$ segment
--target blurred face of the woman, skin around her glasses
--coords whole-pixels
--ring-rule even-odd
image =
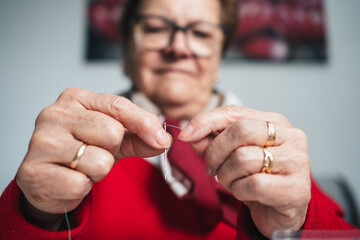
[[[220,7],[219,0],[144,0],[138,13],[162,16],[184,27],[198,21],[220,24]],[[166,116],[191,119],[212,93],[220,59],[221,51],[197,57],[188,49],[184,32],[177,31],[164,50],[145,50],[132,41],[129,74]]]

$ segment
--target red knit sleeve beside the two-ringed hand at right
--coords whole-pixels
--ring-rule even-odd
[[[355,229],[343,219],[343,210],[329,197],[327,197],[317,186],[314,180],[311,181],[311,200],[308,205],[308,212],[303,230],[348,230]]]

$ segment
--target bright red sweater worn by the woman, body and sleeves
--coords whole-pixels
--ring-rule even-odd
[[[28,223],[19,208],[20,189],[12,181],[0,198],[0,239],[68,239],[68,231],[47,231]],[[303,229],[353,229],[341,209],[312,183]],[[70,213],[72,239],[263,239],[248,208],[239,204],[236,229],[220,222],[202,232],[193,212],[173,194],[161,172],[141,158],[120,160],[93,185]]]

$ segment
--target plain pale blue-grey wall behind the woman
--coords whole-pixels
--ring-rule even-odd
[[[119,64],[83,60],[85,1],[0,0],[0,192],[42,108],[70,86],[117,93]],[[303,129],[315,175],[341,174],[360,200],[360,1],[327,0],[330,62],[226,62],[219,87]],[[358,201],[360,205],[360,201]]]

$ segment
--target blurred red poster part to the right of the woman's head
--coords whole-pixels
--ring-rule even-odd
[[[230,57],[327,60],[322,0],[242,0]]]

